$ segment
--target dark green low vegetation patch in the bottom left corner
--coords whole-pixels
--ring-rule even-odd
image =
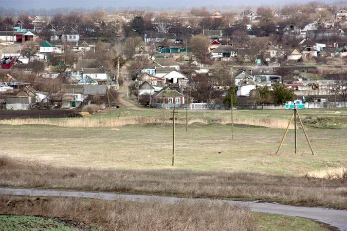
[[[75,231],[78,229],[67,226],[53,219],[29,216],[0,215],[0,230],[3,231]]]

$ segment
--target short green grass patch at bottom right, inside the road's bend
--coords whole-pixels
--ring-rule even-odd
[[[305,218],[263,213],[256,213],[256,216],[260,221],[259,229],[263,231],[328,230],[319,223]]]

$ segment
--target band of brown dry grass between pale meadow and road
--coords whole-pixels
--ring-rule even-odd
[[[337,179],[189,170],[53,168],[1,158],[0,185],[194,198],[277,201],[347,208],[346,182]]]

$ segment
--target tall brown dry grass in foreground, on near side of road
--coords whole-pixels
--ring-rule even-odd
[[[74,198],[0,198],[0,213],[60,218],[96,225],[100,230],[258,229],[248,208],[227,204],[82,200]]]

